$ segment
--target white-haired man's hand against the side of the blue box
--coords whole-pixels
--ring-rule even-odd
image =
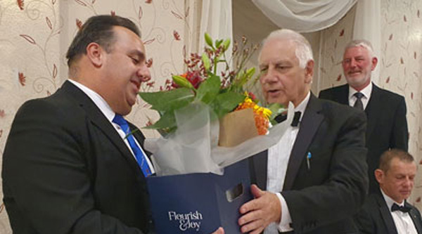
[[[242,233],[258,234],[269,226],[269,223],[279,223],[281,219],[281,204],[274,193],[262,191],[255,185],[250,186],[254,200],[243,204],[238,220]]]

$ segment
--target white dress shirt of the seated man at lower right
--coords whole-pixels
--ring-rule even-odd
[[[383,194],[384,200],[387,203],[388,210],[391,213],[392,220],[394,220],[394,224],[397,228],[397,233],[399,234],[418,234],[416,227],[411,220],[410,214],[408,212],[400,212],[399,210],[395,212],[391,212],[392,204],[397,203],[392,200],[388,195],[384,193],[381,189],[381,193]],[[399,206],[404,206],[404,201],[402,203],[397,203]]]

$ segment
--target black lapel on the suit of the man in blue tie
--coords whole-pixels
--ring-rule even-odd
[[[116,146],[116,148],[121,152],[120,155],[124,157],[129,165],[136,171],[137,174],[141,174],[138,163],[134,159],[132,152],[130,152],[127,145],[124,143],[120,135],[114,129],[113,125],[108,122],[108,119],[103,115],[100,109],[95,105],[95,103],[85,94],[82,90],[77,88],[74,84],[66,81],[62,86],[63,91],[67,92],[69,96],[74,98],[79,106],[85,110],[87,116],[91,120],[92,124],[98,127],[103,131],[103,134],[107,136],[110,141]]]

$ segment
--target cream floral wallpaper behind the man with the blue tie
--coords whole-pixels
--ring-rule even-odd
[[[194,37],[189,24],[200,4],[186,2],[0,0],[0,155],[20,105],[51,95],[67,79],[65,53],[78,28],[91,15],[116,14],[133,20],[141,29],[152,76],[141,89],[165,87],[170,74],[183,70],[185,37]],[[139,99],[128,118],[137,126],[145,126],[156,116]],[[153,131],[144,134],[155,136]],[[1,200],[0,234],[6,233],[12,232]]]

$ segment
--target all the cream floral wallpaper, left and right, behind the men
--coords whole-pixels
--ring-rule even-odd
[[[0,0],[0,155],[16,110],[30,98],[49,96],[65,81],[65,52],[77,28],[91,15],[117,14],[141,28],[153,79],[143,90],[165,86],[170,74],[183,70],[184,54],[195,49],[200,1],[180,0]],[[234,8],[236,11],[236,8]],[[422,1],[382,1],[382,55],[378,85],[406,97],[410,152],[422,152]],[[320,58],[320,89],[345,83],[340,60],[352,37],[354,10],[337,25],[324,30]],[[154,112],[139,100],[129,119],[144,126]],[[153,131],[144,131],[156,136]],[[1,161],[0,161],[1,163]],[[421,172],[419,171],[419,174]],[[422,176],[416,180],[412,201],[421,209]],[[1,186],[1,184],[0,184]],[[1,197],[1,196],[0,196]],[[1,204],[1,202],[0,202]],[[0,206],[0,233],[11,233]]]

